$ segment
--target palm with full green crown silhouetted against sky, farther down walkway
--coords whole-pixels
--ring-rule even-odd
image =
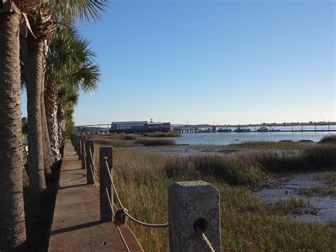
[[[64,109],[74,106],[79,90],[93,92],[99,82],[99,67],[89,41],[79,38],[73,28],[63,27],[50,43],[45,72],[45,108],[50,143],[59,151],[62,142]]]

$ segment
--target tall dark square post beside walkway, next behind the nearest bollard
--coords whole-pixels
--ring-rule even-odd
[[[108,163],[108,168],[106,167],[106,160]],[[108,172],[110,172],[112,177],[113,154],[111,147],[99,148],[99,167],[101,221],[112,221],[112,209],[110,203],[108,202],[107,196],[108,193],[113,205],[113,190],[111,185],[111,178],[110,175],[108,175]]]

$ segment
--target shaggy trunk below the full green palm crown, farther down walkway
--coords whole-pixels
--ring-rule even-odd
[[[57,89],[48,84],[45,89],[45,114],[47,115],[47,129],[49,131],[50,145],[55,160],[60,160],[60,141],[57,124]]]

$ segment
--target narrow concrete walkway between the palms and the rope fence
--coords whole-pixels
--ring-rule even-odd
[[[102,223],[99,191],[86,185],[86,171],[67,143],[57,192],[49,251],[127,251],[112,222]],[[121,228],[130,251],[143,251],[128,226]]]

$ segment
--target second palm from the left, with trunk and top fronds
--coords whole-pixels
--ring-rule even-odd
[[[45,189],[44,159],[43,159],[43,128],[41,100],[43,83],[43,71],[45,56],[47,55],[48,41],[52,38],[57,26],[57,18],[69,23],[78,18],[87,20],[89,16],[100,18],[102,10],[100,2],[96,1],[56,1],[50,0],[47,4],[38,6],[35,15],[30,17],[30,26],[33,35],[28,37],[28,60],[26,70],[27,106],[28,106],[28,141],[30,149],[33,149],[28,158],[28,174],[30,175],[30,190],[38,193]],[[30,120],[30,118],[32,118]],[[52,143],[52,139],[51,143]],[[57,146],[58,148],[59,146]],[[57,150],[56,158],[60,158]]]

